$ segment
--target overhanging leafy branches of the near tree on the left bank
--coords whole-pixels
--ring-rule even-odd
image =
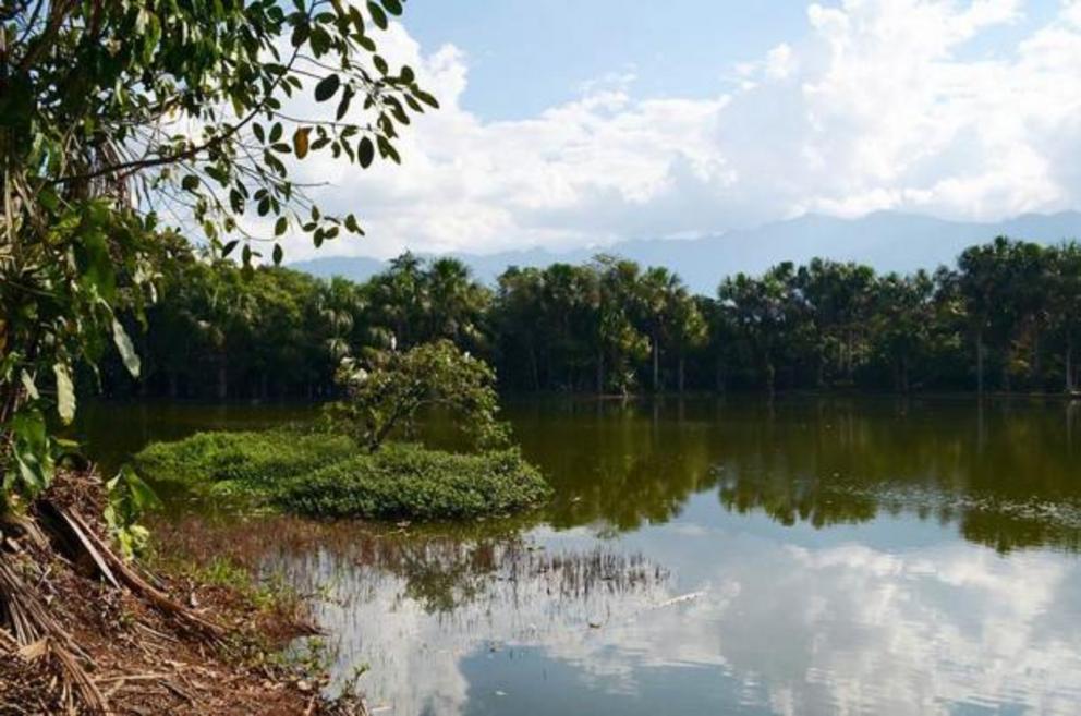
[[[327,215],[292,160],[321,153],[366,168],[400,161],[411,117],[438,102],[412,68],[378,54],[400,0],[0,3],[0,471],[3,507],[48,484],[41,415],[75,411],[73,375],[110,341],[142,372],[145,325],[162,272],[185,253],[158,211],[206,236],[214,256],[242,244],[245,274],[290,228],[316,246],[356,218]],[[333,120],[296,117],[314,95]],[[289,131],[292,142],[286,139]],[[264,221],[244,221],[252,214]],[[245,229],[272,226],[272,235]],[[228,318],[236,313],[226,312]],[[210,326],[210,330],[221,326]]]

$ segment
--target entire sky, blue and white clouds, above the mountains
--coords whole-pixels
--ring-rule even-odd
[[[377,40],[441,109],[401,167],[303,162],[367,236],[291,258],[1081,207],[1081,0],[410,0]]]

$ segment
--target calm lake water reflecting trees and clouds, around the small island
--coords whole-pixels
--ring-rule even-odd
[[[305,413],[98,406],[86,433],[108,465]],[[367,666],[377,714],[1081,713],[1081,405],[509,414],[557,488],[543,514],[183,529],[315,594],[337,677]]]

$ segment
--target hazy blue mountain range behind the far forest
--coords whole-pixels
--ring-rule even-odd
[[[603,248],[552,253],[543,248],[498,254],[453,254],[483,281],[494,281],[508,266],[580,263],[603,251],[639,262],[666,266],[700,293],[712,294],[725,276],[757,274],[784,260],[804,263],[815,256],[853,260],[879,271],[913,271],[952,264],[965,247],[998,235],[1056,243],[1081,238],[1081,213],[1025,214],[999,222],[947,221],[913,214],[878,211],[859,219],[807,214],[755,229],[701,239],[637,240]],[[315,276],[365,280],[386,268],[367,257],[326,256],[292,265]]]

